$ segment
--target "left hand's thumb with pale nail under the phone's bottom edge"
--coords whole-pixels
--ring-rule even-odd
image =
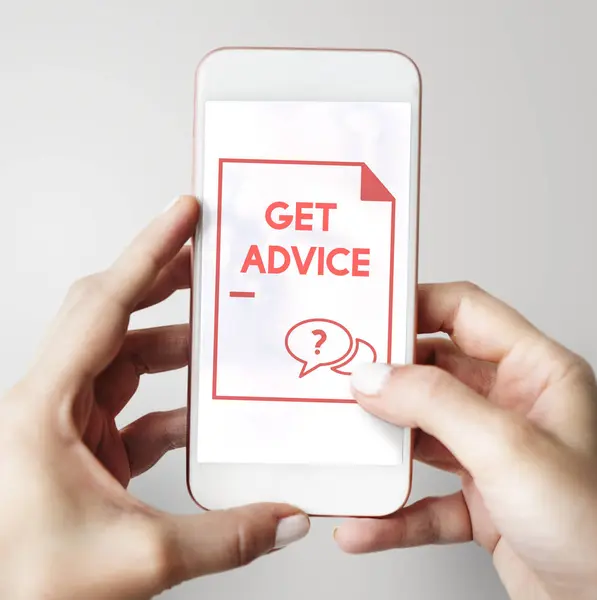
[[[252,504],[193,516],[165,515],[162,589],[244,566],[307,535],[309,517],[285,504]]]

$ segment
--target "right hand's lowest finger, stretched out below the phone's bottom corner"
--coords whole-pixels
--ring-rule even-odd
[[[472,539],[472,527],[462,492],[425,498],[384,519],[351,519],[334,532],[342,550],[350,554],[412,548],[429,544],[457,544]]]

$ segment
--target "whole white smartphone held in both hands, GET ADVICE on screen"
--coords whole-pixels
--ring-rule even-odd
[[[411,432],[359,362],[415,342],[421,81],[403,54],[224,48],[196,74],[188,487],[206,509],[381,516]]]

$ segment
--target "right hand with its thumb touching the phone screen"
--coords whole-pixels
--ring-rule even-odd
[[[476,541],[513,599],[597,598],[597,385],[591,367],[470,284],[419,288],[422,365],[367,365],[360,405],[415,432],[462,491],[336,531],[352,553]]]

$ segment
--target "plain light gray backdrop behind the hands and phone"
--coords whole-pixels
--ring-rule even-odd
[[[68,284],[189,189],[193,72],[214,46],[392,47],[424,81],[421,279],[471,279],[595,364],[597,8],[590,0],[56,1],[0,4],[0,390]],[[184,321],[183,293],[135,326]],[[146,379],[126,422],[185,399]],[[131,489],[193,511],[184,453]],[[424,468],[414,497],[457,482]],[[349,557],[307,541],[170,599],[503,598],[473,545]]]

